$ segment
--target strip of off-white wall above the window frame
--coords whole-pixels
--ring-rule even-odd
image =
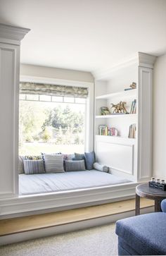
[[[72,71],[68,69],[49,68],[45,66],[27,64],[20,64],[20,75],[94,83],[94,77],[90,72]]]

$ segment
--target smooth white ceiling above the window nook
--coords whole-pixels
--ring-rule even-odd
[[[0,23],[31,29],[21,63],[95,75],[137,51],[166,53],[165,0],[0,0]]]

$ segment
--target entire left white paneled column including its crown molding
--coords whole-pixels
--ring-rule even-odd
[[[28,31],[0,24],[0,198],[18,196],[20,39]]]

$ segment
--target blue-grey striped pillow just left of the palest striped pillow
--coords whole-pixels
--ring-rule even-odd
[[[43,160],[23,160],[25,174],[45,173]]]

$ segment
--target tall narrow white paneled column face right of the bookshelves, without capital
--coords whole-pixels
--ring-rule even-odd
[[[151,178],[153,69],[139,67],[139,181]]]

